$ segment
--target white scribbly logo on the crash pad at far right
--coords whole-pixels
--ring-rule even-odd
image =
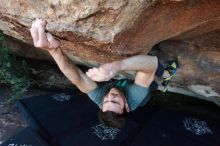
[[[183,124],[186,130],[196,135],[213,134],[205,121],[200,121],[199,119],[191,117],[185,117]]]

